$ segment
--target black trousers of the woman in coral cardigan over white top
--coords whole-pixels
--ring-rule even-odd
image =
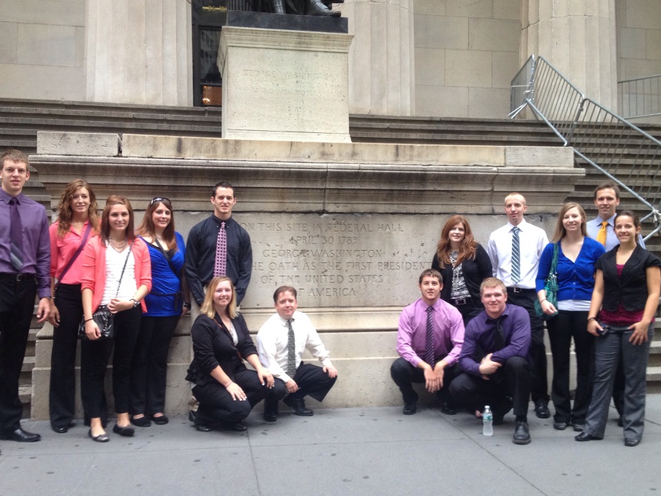
[[[115,314],[115,337],[112,340],[81,341],[81,396],[85,416],[103,416],[105,372],[111,353],[112,393],[117,413],[128,413],[131,397],[131,360],[138,340],[140,307]]]

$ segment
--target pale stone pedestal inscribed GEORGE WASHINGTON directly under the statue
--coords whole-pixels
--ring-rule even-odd
[[[341,32],[222,28],[222,137],[351,141],[347,92],[352,38]]]

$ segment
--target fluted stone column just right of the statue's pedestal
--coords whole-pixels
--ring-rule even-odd
[[[411,115],[415,102],[413,0],[345,0],[349,112]]]

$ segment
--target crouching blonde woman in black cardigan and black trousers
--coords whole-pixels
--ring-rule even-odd
[[[229,278],[220,276],[209,282],[191,339],[193,361],[186,380],[200,402],[195,418],[198,431],[216,427],[245,431],[243,420],[255,404],[268,395],[278,401],[286,394],[284,385],[274,388],[273,375],[260,363],[246,321],[236,311],[236,293]],[[247,369],[243,360],[255,370]]]

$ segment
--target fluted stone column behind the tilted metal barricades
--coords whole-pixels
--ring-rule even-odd
[[[521,62],[543,56],[580,92],[616,110],[615,0],[523,0]]]

